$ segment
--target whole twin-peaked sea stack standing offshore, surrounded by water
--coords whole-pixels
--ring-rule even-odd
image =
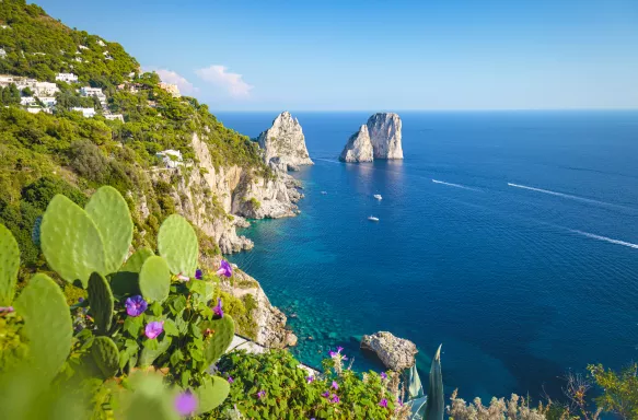
[[[374,159],[403,159],[401,117],[395,113],[376,113],[359,132],[348,140],[340,161],[372,162]]]

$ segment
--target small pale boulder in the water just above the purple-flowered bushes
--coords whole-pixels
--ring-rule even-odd
[[[414,342],[387,331],[363,336],[361,349],[374,352],[387,369],[397,372],[411,368],[418,353]]]

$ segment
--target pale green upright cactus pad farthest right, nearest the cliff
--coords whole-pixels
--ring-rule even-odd
[[[179,214],[172,214],[160,226],[158,249],[166,258],[174,275],[195,277],[199,244],[190,223]]]

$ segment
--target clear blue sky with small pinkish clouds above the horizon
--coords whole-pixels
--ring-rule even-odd
[[[218,110],[638,108],[636,0],[40,0]]]

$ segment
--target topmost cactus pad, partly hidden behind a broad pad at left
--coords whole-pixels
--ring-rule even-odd
[[[104,186],[91,196],[84,210],[102,235],[106,256],[105,272],[117,271],[132,241],[132,220],[124,197],[117,189]]]

